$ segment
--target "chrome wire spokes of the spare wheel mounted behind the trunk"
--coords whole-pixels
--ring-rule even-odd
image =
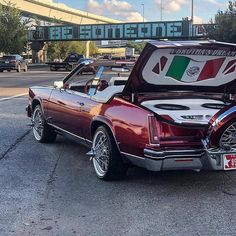
[[[236,148],[236,122],[230,125],[220,138],[220,146],[230,146]]]

